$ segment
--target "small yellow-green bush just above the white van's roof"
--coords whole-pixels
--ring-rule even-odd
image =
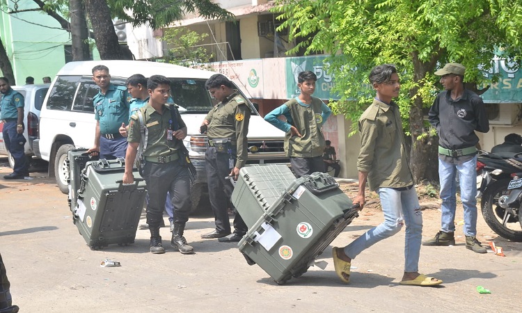
[[[212,54],[209,54],[204,47],[195,47],[207,37],[207,33],[196,33],[185,27],[166,29],[162,40],[174,47],[168,49],[165,61],[186,67],[208,63]]]

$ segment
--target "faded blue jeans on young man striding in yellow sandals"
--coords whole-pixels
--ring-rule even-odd
[[[344,248],[350,259],[355,259],[366,248],[370,248],[397,232],[406,224],[404,242],[404,272],[417,272],[422,240],[422,211],[415,187],[404,191],[393,188],[379,188],[384,222],[368,230]]]

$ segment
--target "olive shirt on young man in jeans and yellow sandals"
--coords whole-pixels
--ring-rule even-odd
[[[358,121],[361,152],[357,169],[368,172],[371,191],[378,188],[402,188],[413,184],[409,152],[404,143],[399,107],[374,99]]]

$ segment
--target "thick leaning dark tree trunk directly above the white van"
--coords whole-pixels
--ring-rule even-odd
[[[93,26],[96,47],[102,60],[124,60],[118,36],[114,30],[109,5],[105,0],[85,0],[86,11]]]

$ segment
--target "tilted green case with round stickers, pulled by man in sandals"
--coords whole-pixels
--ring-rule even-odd
[[[335,179],[322,172],[294,179],[281,193],[238,244],[248,264],[258,264],[278,284],[306,273],[358,216]],[[236,207],[244,216],[247,208]]]

